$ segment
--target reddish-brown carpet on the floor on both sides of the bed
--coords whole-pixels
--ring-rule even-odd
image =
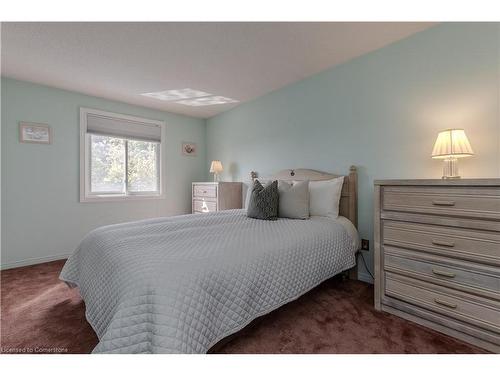
[[[2,352],[90,353],[97,337],[77,290],[58,280],[64,261],[1,271]],[[373,308],[373,288],[331,279],[263,317],[219,353],[484,353]]]

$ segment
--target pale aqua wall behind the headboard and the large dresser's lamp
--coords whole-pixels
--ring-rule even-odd
[[[499,24],[439,25],[243,104],[207,121],[207,163],[245,181],[354,164],[371,240],[373,180],[439,178],[430,153],[441,129],[466,129],[476,156],[461,160],[464,176],[500,177],[499,38]]]

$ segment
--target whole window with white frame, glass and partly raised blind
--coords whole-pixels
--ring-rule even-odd
[[[163,197],[162,125],[82,108],[80,201]]]

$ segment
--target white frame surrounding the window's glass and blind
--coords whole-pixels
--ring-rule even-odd
[[[156,148],[158,162],[158,192],[130,192],[128,191],[128,144],[125,142],[125,193],[93,193],[91,191],[90,181],[90,160],[91,160],[91,134],[87,133],[87,117],[88,115],[106,116],[117,120],[133,121],[160,127],[161,135],[160,142]],[[125,140],[139,140],[131,137],[110,136],[113,138],[123,138]],[[113,201],[130,201],[130,200],[149,200],[149,199],[164,199],[165,198],[165,168],[164,168],[164,148],[165,145],[165,122],[159,120],[151,120],[142,117],[123,115],[120,113],[105,112],[92,108],[80,108],[80,202],[113,202]]]

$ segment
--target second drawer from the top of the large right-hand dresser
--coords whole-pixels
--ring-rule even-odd
[[[382,243],[500,265],[500,233],[383,220]]]

